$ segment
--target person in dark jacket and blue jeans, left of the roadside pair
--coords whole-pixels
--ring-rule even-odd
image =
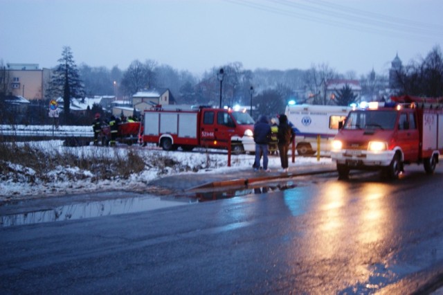
[[[268,169],[268,145],[271,140],[271,125],[269,125],[266,116],[260,116],[254,125],[254,142],[255,142],[255,162],[254,170],[260,169],[260,159],[263,156],[263,170],[269,172]]]

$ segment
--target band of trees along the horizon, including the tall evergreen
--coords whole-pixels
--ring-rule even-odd
[[[372,70],[368,75],[357,78],[353,72],[338,73],[328,64],[313,64],[307,70],[251,71],[244,69],[241,62],[233,62],[214,66],[197,77],[189,71],[177,71],[154,60],[134,60],[125,71],[118,69],[118,66],[112,69],[87,64],[77,66],[69,46],[63,48],[62,57],[57,62],[46,99],[63,97],[66,120],[72,120],[69,119],[71,98],[131,98],[143,89],[170,89],[177,104],[218,105],[222,85],[223,105],[253,105],[253,116],[256,118],[259,114],[274,116],[281,113],[289,100],[302,103],[310,98],[309,101],[316,105],[350,105],[354,102],[356,94],[350,85],[338,89],[331,102],[325,87],[327,81],[332,79],[358,79],[362,87],[361,95],[368,100],[385,98],[380,93],[389,87],[387,75],[378,75]],[[224,70],[222,82],[217,77],[219,69]],[[395,89],[390,89],[392,95],[443,96],[443,56],[440,46],[432,48],[426,57],[402,66],[395,76],[397,85]],[[6,71],[0,71],[0,98],[7,93]],[[3,100],[0,99],[0,104]]]

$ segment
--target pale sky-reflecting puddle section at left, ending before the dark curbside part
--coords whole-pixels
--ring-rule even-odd
[[[159,208],[168,208],[189,203],[190,200],[185,199],[177,201],[172,198],[166,199],[152,196],[84,202],[58,206],[57,208],[43,211],[1,216],[0,226],[6,227],[62,220],[80,220],[90,217],[152,211]]]

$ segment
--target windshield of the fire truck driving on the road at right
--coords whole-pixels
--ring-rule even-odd
[[[351,111],[343,129],[394,129],[396,118],[394,110]]]

